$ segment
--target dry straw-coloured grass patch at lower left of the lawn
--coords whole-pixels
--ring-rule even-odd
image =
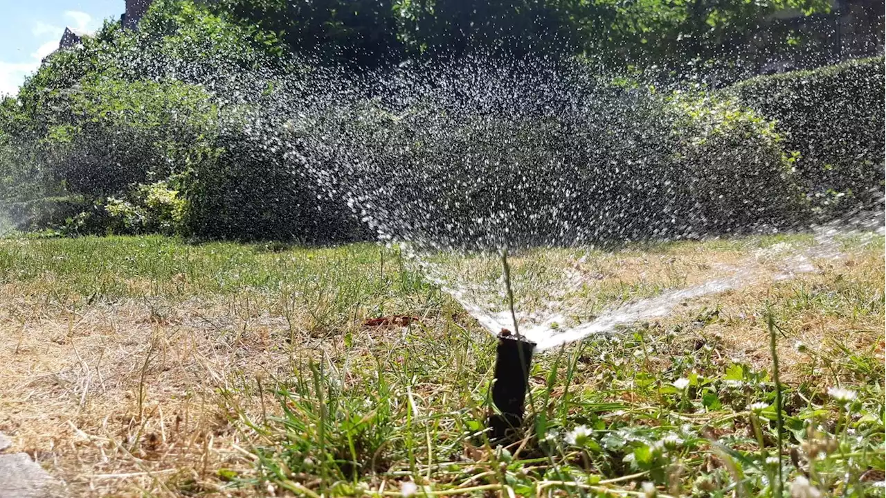
[[[211,309],[159,323],[133,302],[75,311],[16,297],[0,332],[0,426],[75,494],[174,494],[169,474],[211,487],[219,466],[245,463],[214,392],[235,369],[279,361],[258,334],[224,344],[200,323],[224,318]]]

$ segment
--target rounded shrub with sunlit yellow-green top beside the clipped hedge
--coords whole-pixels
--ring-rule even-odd
[[[686,175],[683,188],[707,230],[729,231],[759,222],[789,225],[805,203],[792,175],[796,158],[781,149],[774,123],[722,97],[674,94],[671,161]]]

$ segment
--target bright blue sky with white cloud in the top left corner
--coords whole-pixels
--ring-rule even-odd
[[[94,31],[123,11],[124,0],[0,0],[0,96],[18,93],[66,26]]]

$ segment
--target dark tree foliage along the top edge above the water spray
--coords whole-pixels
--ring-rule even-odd
[[[749,72],[753,53],[798,51],[803,34],[773,22],[828,0],[221,0],[215,12],[276,34],[288,51],[371,67],[417,54],[584,54],[607,66],[718,80]],[[750,50],[766,32],[770,42]]]

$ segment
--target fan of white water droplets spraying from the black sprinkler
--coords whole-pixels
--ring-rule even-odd
[[[501,250],[812,227],[797,222],[802,203],[789,181],[773,181],[781,174],[758,160],[770,151],[733,144],[746,155],[724,147],[708,162],[692,162],[680,155],[686,138],[666,98],[640,85],[613,86],[582,66],[469,59],[309,89],[299,98],[298,110],[278,114],[287,116],[280,141],[293,168],[344,199],[380,239],[403,243],[487,331],[518,327],[540,350],[843,256],[836,240],[845,221],[815,228],[809,247],[776,247],[716,268],[698,284],[608,302],[595,316],[571,302],[582,283],[569,268],[529,269],[525,281],[536,288],[515,285],[514,323],[494,264]],[[740,174],[724,175],[730,168]],[[745,178],[756,183],[727,184]],[[856,225],[868,232],[882,226],[874,214],[857,216]],[[451,256],[440,261],[453,253],[485,262],[460,273]]]

